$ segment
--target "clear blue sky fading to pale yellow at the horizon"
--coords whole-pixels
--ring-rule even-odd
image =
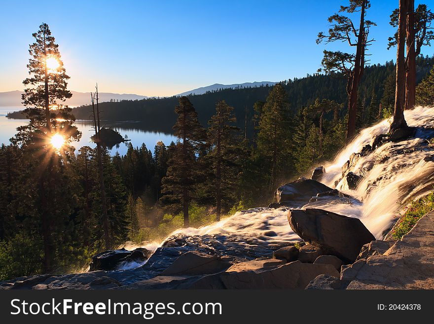
[[[42,22],[59,44],[69,89],[80,92],[95,82],[101,92],[172,96],[214,83],[281,81],[315,73],[325,48],[355,49],[315,42],[347,0],[0,2],[0,92],[23,90],[29,44]],[[371,0],[371,63],[396,60],[396,49],[387,50],[396,7],[398,0]]]

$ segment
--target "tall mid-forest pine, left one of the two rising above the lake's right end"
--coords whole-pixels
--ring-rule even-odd
[[[184,227],[188,227],[188,207],[195,191],[199,171],[196,153],[200,151],[205,139],[205,130],[187,97],[179,99],[175,112],[178,119],[173,128],[178,142],[169,159],[167,175],[163,179],[162,199],[169,202],[175,211],[182,210]]]

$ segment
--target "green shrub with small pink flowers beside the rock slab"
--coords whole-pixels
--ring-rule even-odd
[[[407,234],[417,221],[434,209],[434,191],[429,195],[414,200],[405,211],[404,215],[399,218],[396,224],[392,237],[396,240],[400,240],[403,235]]]

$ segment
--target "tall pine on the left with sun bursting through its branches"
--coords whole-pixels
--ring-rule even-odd
[[[67,90],[69,76],[48,25],[40,25],[33,36],[36,41],[30,45],[27,65],[30,77],[23,81],[22,96],[30,122],[17,129],[11,142],[23,149],[27,177],[22,185],[33,191],[32,199],[37,201],[37,206],[23,202],[20,210],[26,213],[26,206],[32,210],[28,213],[34,215],[33,226],[43,242],[43,271],[49,272],[61,262],[61,248],[66,248],[71,238],[67,235],[72,228],[68,216],[76,206],[71,192],[76,179],[67,163],[74,156],[69,144],[81,133],[73,125],[71,109],[62,105],[72,96]]]

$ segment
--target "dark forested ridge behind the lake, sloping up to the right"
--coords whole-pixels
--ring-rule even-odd
[[[434,64],[433,57],[417,57],[416,82],[419,83],[431,70]],[[387,77],[395,77],[396,66],[393,61],[385,64],[375,64],[367,66],[364,70],[361,83],[359,85],[359,100],[365,98],[365,107],[371,102],[372,94],[380,100],[385,91],[385,80]],[[344,103],[345,113],[347,110],[347,80],[340,74],[325,75],[315,73],[302,78],[289,79],[283,81],[291,104],[293,113],[303,107],[312,105],[315,99],[330,99],[339,103]],[[265,101],[272,87],[260,86],[253,88],[222,89],[219,91],[208,92],[203,95],[188,96],[190,102],[198,111],[199,122],[207,126],[208,120],[214,114],[214,107],[217,101],[224,100],[229,106],[234,108],[237,118],[237,126],[243,131],[247,117],[247,131],[249,137],[253,135],[253,105],[257,101]],[[394,89],[395,91],[395,89]],[[395,100],[395,98],[394,98]],[[171,133],[172,126],[176,121],[176,114],[173,108],[177,105],[178,98],[149,98],[137,101],[120,101],[101,103],[103,111],[102,118],[113,121],[140,121],[141,127],[151,131]],[[77,119],[90,118],[90,106],[73,108],[72,113]]]

